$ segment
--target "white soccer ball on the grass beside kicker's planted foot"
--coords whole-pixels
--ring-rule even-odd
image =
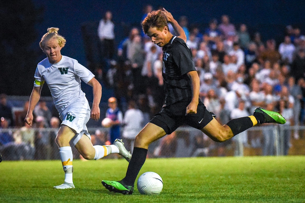
[[[141,194],[160,194],[163,188],[163,181],[155,172],[146,172],[139,177],[137,188]]]

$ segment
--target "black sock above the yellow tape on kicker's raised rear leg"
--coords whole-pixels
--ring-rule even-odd
[[[238,119],[232,119],[227,124],[233,132],[233,136],[245,131],[246,129],[249,129],[253,126],[253,122],[250,119],[250,117],[241,117]]]

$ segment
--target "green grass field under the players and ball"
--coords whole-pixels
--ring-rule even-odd
[[[147,159],[140,174],[158,173],[160,195],[110,193],[101,180],[120,180],[123,159],[74,160],[76,189],[55,190],[64,172],[57,161],[0,163],[0,202],[305,202],[305,157]],[[140,175],[139,174],[139,175]]]

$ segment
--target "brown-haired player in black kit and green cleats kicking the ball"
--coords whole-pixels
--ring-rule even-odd
[[[171,23],[178,36],[168,30]],[[142,22],[142,28],[152,42],[163,50],[163,81],[165,101],[161,112],[139,132],[126,176],[120,181],[102,181],[109,191],[132,194],[135,179],[145,162],[148,146],[153,141],[174,132],[181,125],[200,129],[216,142],[223,142],[260,123],[286,121],[277,112],[256,108],[253,115],[232,119],[221,126],[199,99],[199,77],[192,61],[186,36],[170,12],[164,8],[152,11]]]

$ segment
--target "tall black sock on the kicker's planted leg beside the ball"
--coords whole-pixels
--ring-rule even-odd
[[[134,147],[126,176],[122,180],[126,185],[133,186],[135,184],[135,179],[146,160],[147,151],[144,148]]]

